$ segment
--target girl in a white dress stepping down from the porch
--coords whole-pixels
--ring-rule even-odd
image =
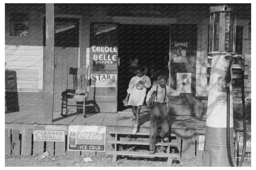
[[[130,79],[127,96],[123,101],[124,103],[128,101],[127,105],[132,106],[132,113],[136,118],[132,134],[136,134],[138,132],[138,126],[140,124],[140,109],[142,108],[146,96],[146,88],[151,87],[150,77],[144,75],[142,68],[136,68],[136,74],[136,76]]]

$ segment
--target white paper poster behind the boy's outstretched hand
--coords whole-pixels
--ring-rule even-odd
[[[184,79],[188,81],[181,93],[191,93],[191,72],[177,72],[177,89],[180,88]]]

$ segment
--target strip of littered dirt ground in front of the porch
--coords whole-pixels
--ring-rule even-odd
[[[17,166],[167,166],[166,158],[129,158],[118,157],[118,161],[112,163],[112,156],[110,155],[95,155],[91,156],[92,162],[85,162],[83,158],[87,156],[47,156],[43,160],[35,160],[32,156],[8,156],[5,160],[6,167]],[[202,160],[196,158],[181,158],[180,160],[173,160],[172,166],[202,166]],[[251,166],[250,159],[244,160],[242,166]]]

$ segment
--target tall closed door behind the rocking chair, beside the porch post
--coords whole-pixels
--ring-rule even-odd
[[[70,68],[79,64],[79,18],[54,19],[55,58],[54,58],[54,111],[60,112],[62,91],[73,88],[73,75]],[[44,47],[46,43],[46,18],[44,17]],[[68,81],[67,81],[68,79]]]

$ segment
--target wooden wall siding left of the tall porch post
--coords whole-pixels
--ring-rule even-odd
[[[42,98],[42,73],[43,73],[43,47],[40,41],[39,15],[44,10],[43,4],[6,5],[6,39],[5,39],[5,60],[6,69],[17,71],[18,69],[38,69],[39,73],[39,93],[18,92],[19,110],[38,110]],[[11,12],[28,12],[29,16],[29,36],[11,37],[9,30],[9,20]]]

